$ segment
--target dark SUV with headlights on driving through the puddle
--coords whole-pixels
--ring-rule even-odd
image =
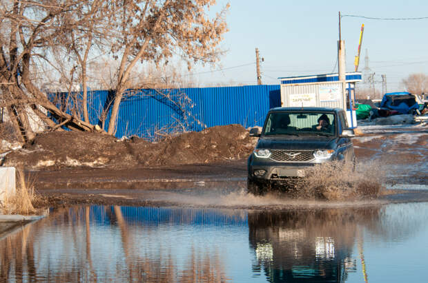
[[[355,163],[346,114],[339,108],[271,109],[250,136],[260,137],[248,160],[248,191],[263,194],[269,185],[302,178],[307,169],[333,160]]]

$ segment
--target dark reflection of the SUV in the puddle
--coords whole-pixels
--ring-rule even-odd
[[[356,272],[359,225],[378,222],[380,209],[318,209],[249,213],[254,271],[271,282],[342,282]]]

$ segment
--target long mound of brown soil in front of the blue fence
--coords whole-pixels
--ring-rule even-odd
[[[87,132],[39,134],[22,149],[6,155],[4,166],[25,169],[66,167],[129,168],[239,160],[249,156],[257,138],[241,125],[188,132],[157,143],[142,138],[117,140]]]

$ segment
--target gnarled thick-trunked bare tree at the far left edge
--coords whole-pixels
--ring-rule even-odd
[[[61,111],[48,100],[34,81],[35,58],[48,61],[47,54],[55,39],[64,36],[66,25],[61,20],[66,13],[79,12],[84,1],[3,1],[0,9],[0,85],[1,104],[8,108],[12,124],[21,140],[32,140],[35,134],[28,123],[26,105],[50,127],[54,123],[38,105],[46,109],[58,123],[70,129],[92,131],[93,125]]]

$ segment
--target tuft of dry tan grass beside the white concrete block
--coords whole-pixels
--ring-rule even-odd
[[[25,177],[22,169],[17,169],[17,191],[14,196],[6,196],[3,203],[0,203],[0,213],[2,214],[23,214],[36,213],[32,202],[37,199],[34,189],[34,181]]]

